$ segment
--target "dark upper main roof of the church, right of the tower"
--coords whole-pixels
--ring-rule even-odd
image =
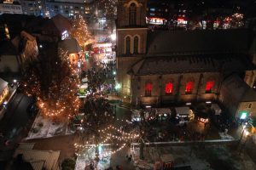
[[[234,54],[248,52],[250,31],[148,31],[148,56]]]

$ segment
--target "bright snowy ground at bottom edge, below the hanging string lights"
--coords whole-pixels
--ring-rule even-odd
[[[109,153],[111,149],[102,147],[100,152],[100,161],[95,161],[96,149],[95,147],[86,148],[79,153],[76,161],[75,170],[90,169],[90,164],[93,164],[95,170],[106,169],[110,166],[110,156],[103,156]]]

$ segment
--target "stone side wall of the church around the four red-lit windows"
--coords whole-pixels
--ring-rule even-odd
[[[206,83],[212,80],[214,85],[210,94],[206,93]],[[194,81],[191,94],[186,94],[188,81]],[[152,82],[151,96],[145,96],[145,84]],[[166,83],[172,82],[172,94],[166,94]],[[194,100],[215,100],[219,90],[219,73],[185,73],[169,75],[148,75],[132,77],[131,103],[133,105],[160,105],[165,103],[191,102]]]

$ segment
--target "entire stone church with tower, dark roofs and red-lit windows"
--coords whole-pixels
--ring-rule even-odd
[[[234,75],[253,86],[252,31],[152,31],[146,0],[118,2],[117,82],[132,105],[223,101],[221,88]]]

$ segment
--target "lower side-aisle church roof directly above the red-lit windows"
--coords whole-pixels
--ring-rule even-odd
[[[138,76],[206,71],[229,73],[253,68],[245,54],[187,55],[144,58],[132,65],[128,73]]]

